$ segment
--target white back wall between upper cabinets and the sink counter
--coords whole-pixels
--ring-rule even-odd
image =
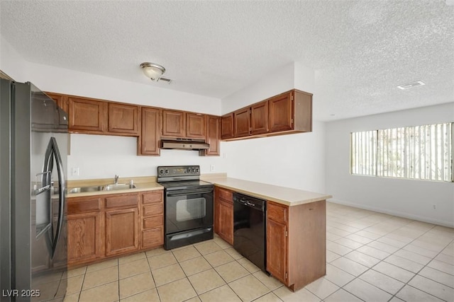
[[[71,134],[68,179],[155,176],[158,165],[200,165],[201,173],[226,172],[226,161],[221,156],[199,156],[198,151],[185,150],[161,150],[161,156],[136,156],[136,146],[135,137]],[[214,171],[210,165],[214,165]],[[79,176],[71,175],[72,168],[79,168]]]

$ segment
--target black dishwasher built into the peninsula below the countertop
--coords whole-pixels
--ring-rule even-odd
[[[266,272],[266,205],[263,199],[233,193],[233,248],[263,272]]]

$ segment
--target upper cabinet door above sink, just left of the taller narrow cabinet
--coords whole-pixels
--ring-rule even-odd
[[[134,105],[109,103],[109,132],[139,134],[139,108]]]

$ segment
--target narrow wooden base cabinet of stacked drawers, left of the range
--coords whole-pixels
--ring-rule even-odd
[[[141,194],[140,248],[164,244],[164,197],[162,190]]]

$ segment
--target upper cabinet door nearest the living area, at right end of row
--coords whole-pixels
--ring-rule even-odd
[[[268,123],[270,132],[293,129],[293,93],[277,95],[268,100]]]

